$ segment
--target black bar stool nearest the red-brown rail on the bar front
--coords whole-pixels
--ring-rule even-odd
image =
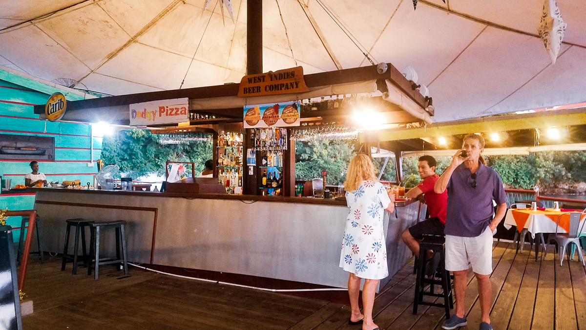
[[[94,279],[98,279],[98,266],[107,264],[124,265],[124,275],[128,274],[128,265],[126,262],[126,239],[124,237],[124,225],[126,221],[114,220],[104,222],[91,222],[90,225],[90,265],[87,267],[87,275],[91,275],[91,262],[94,264],[96,271],[94,272]],[[116,230],[116,257],[100,259],[100,228],[115,228]],[[122,250],[122,259],[120,258],[120,250]],[[93,257],[93,259],[91,259]]]

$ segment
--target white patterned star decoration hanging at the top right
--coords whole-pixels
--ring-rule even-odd
[[[539,38],[546,46],[547,53],[551,58],[551,64],[556,64],[558,53],[560,53],[561,41],[564,39],[567,23],[561,18],[560,8],[556,0],[545,0],[541,23],[539,24]]]

